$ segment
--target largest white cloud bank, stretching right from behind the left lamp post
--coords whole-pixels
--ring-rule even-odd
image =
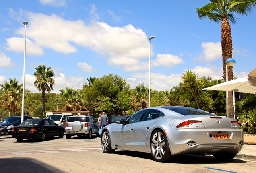
[[[97,10],[95,8],[92,6],[93,14]],[[107,62],[114,66],[120,65],[119,61],[123,58],[133,59],[131,65],[136,65],[138,60],[148,57],[147,35],[140,28],[134,28],[132,25],[112,27],[104,22],[85,24],[82,20],[65,20],[55,14],[48,16],[41,13],[23,13],[29,18],[27,25],[28,54],[41,55],[43,48],[70,54],[78,51],[75,45],[71,44],[74,43],[109,58]],[[23,35],[24,28],[19,28],[16,32]],[[12,37],[6,40],[8,50],[24,51],[23,38]]]

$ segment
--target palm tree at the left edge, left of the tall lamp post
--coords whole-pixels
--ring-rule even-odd
[[[4,84],[1,84],[1,104],[8,104],[8,109],[10,111],[10,116],[15,115],[15,111],[17,109],[17,105],[19,101],[22,99],[22,86],[23,84],[19,84],[19,80],[16,78],[9,79],[9,82],[5,81]]]

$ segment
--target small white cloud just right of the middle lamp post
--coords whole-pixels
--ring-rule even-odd
[[[171,54],[157,54],[157,59],[153,60],[153,65],[155,66],[173,67],[177,64],[183,63],[184,61],[182,60],[182,58]]]

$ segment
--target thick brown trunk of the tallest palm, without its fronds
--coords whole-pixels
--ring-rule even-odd
[[[231,26],[227,21],[227,18],[223,18],[221,23],[221,49],[222,49],[222,66],[223,66],[223,79],[226,81],[226,60],[232,58],[233,51],[232,37],[231,37]],[[228,66],[228,81],[233,80],[233,67]],[[227,81],[226,81],[227,82]],[[228,92],[228,110],[229,115],[227,117],[234,117],[234,107],[233,107],[233,95],[232,91]]]

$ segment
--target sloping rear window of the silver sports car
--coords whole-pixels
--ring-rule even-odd
[[[169,109],[171,111],[174,111],[176,113],[179,113],[181,115],[210,115],[210,116],[216,116],[209,112],[200,110],[200,109],[194,109],[189,107],[164,107],[166,109]]]

